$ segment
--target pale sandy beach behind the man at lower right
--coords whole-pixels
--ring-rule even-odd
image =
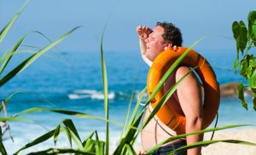
[[[204,140],[209,140],[211,135],[205,135]],[[213,140],[241,140],[256,143],[256,129],[232,129],[216,132]],[[203,155],[255,155],[256,146],[218,142],[202,148]]]

